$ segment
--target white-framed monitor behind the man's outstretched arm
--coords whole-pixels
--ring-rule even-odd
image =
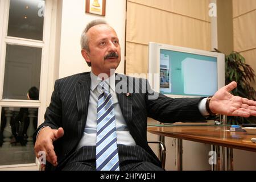
[[[149,43],[148,81],[169,97],[207,97],[225,85],[225,55]]]

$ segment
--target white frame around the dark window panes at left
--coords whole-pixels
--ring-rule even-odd
[[[56,0],[45,0],[46,11],[44,16],[43,25],[43,40],[32,40],[24,38],[16,38],[7,36],[7,28],[9,22],[9,9],[10,0],[0,0],[0,114],[2,107],[36,107],[38,108],[38,126],[44,121],[44,113],[46,111],[47,97],[49,92],[52,92],[53,79],[49,78],[52,75],[51,72],[54,70],[55,53],[50,51],[55,43],[55,30],[56,26],[53,24],[56,21]],[[2,26],[1,26],[2,25]],[[41,73],[40,73],[40,89],[39,89],[39,100],[10,100],[2,99],[3,97],[3,82],[5,76],[5,59],[6,59],[6,46],[7,44],[14,44],[18,46],[38,47],[42,48],[41,57]],[[53,60],[53,61],[50,61]],[[1,121],[0,121],[1,122]],[[15,164],[0,166],[3,168],[23,168],[32,167],[35,169],[39,168],[38,160],[35,159],[35,163],[32,164]]]

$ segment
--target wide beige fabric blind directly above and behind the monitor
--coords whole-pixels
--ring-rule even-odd
[[[147,73],[148,42],[209,51],[210,0],[127,0],[126,74]]]

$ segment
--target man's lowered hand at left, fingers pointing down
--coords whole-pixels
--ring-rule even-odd
[[[46,160],[53,166],[57,166],[57,156],[54,151],[53,142],[60,137],[63,137],[63,135],[64,130],[62,127],[57,130],[52,130],[50,127],[44,127],[40,130],[34,147],[36,157],[40,157],[38,152],[44,151],[46,152]]]

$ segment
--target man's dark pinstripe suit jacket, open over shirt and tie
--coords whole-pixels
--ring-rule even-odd
[[[90,72],[61,78],[55,82],[51,104],[47,107],[44,115],[45,121],[38,130],[43,126],[50,126],[52,129],[63,127],[64,136],[54,143],[59,164],[75,151],[82,138],[88,114],[90,82]],[[115,82],[119,87],[122,85],[121,88],[127,86],[130,93],[133,90],[129,96],[127,96],[127,92],[117,93],[119,105],[135,142],[155,159],[157,157],[147,144],[147,117],[168,123],[205,119],[198,108],[201,98],[174,99],[159,93],[156,100],[150,100],[148,97],[155,94],[150,86],[144,93],[142,92],[145,90],[139,86],[143,82],[147,82],[146,80],[116,75]],[[35,131],[34,141],[38,130]],[[160,166],[160,163],[156,165]]]

